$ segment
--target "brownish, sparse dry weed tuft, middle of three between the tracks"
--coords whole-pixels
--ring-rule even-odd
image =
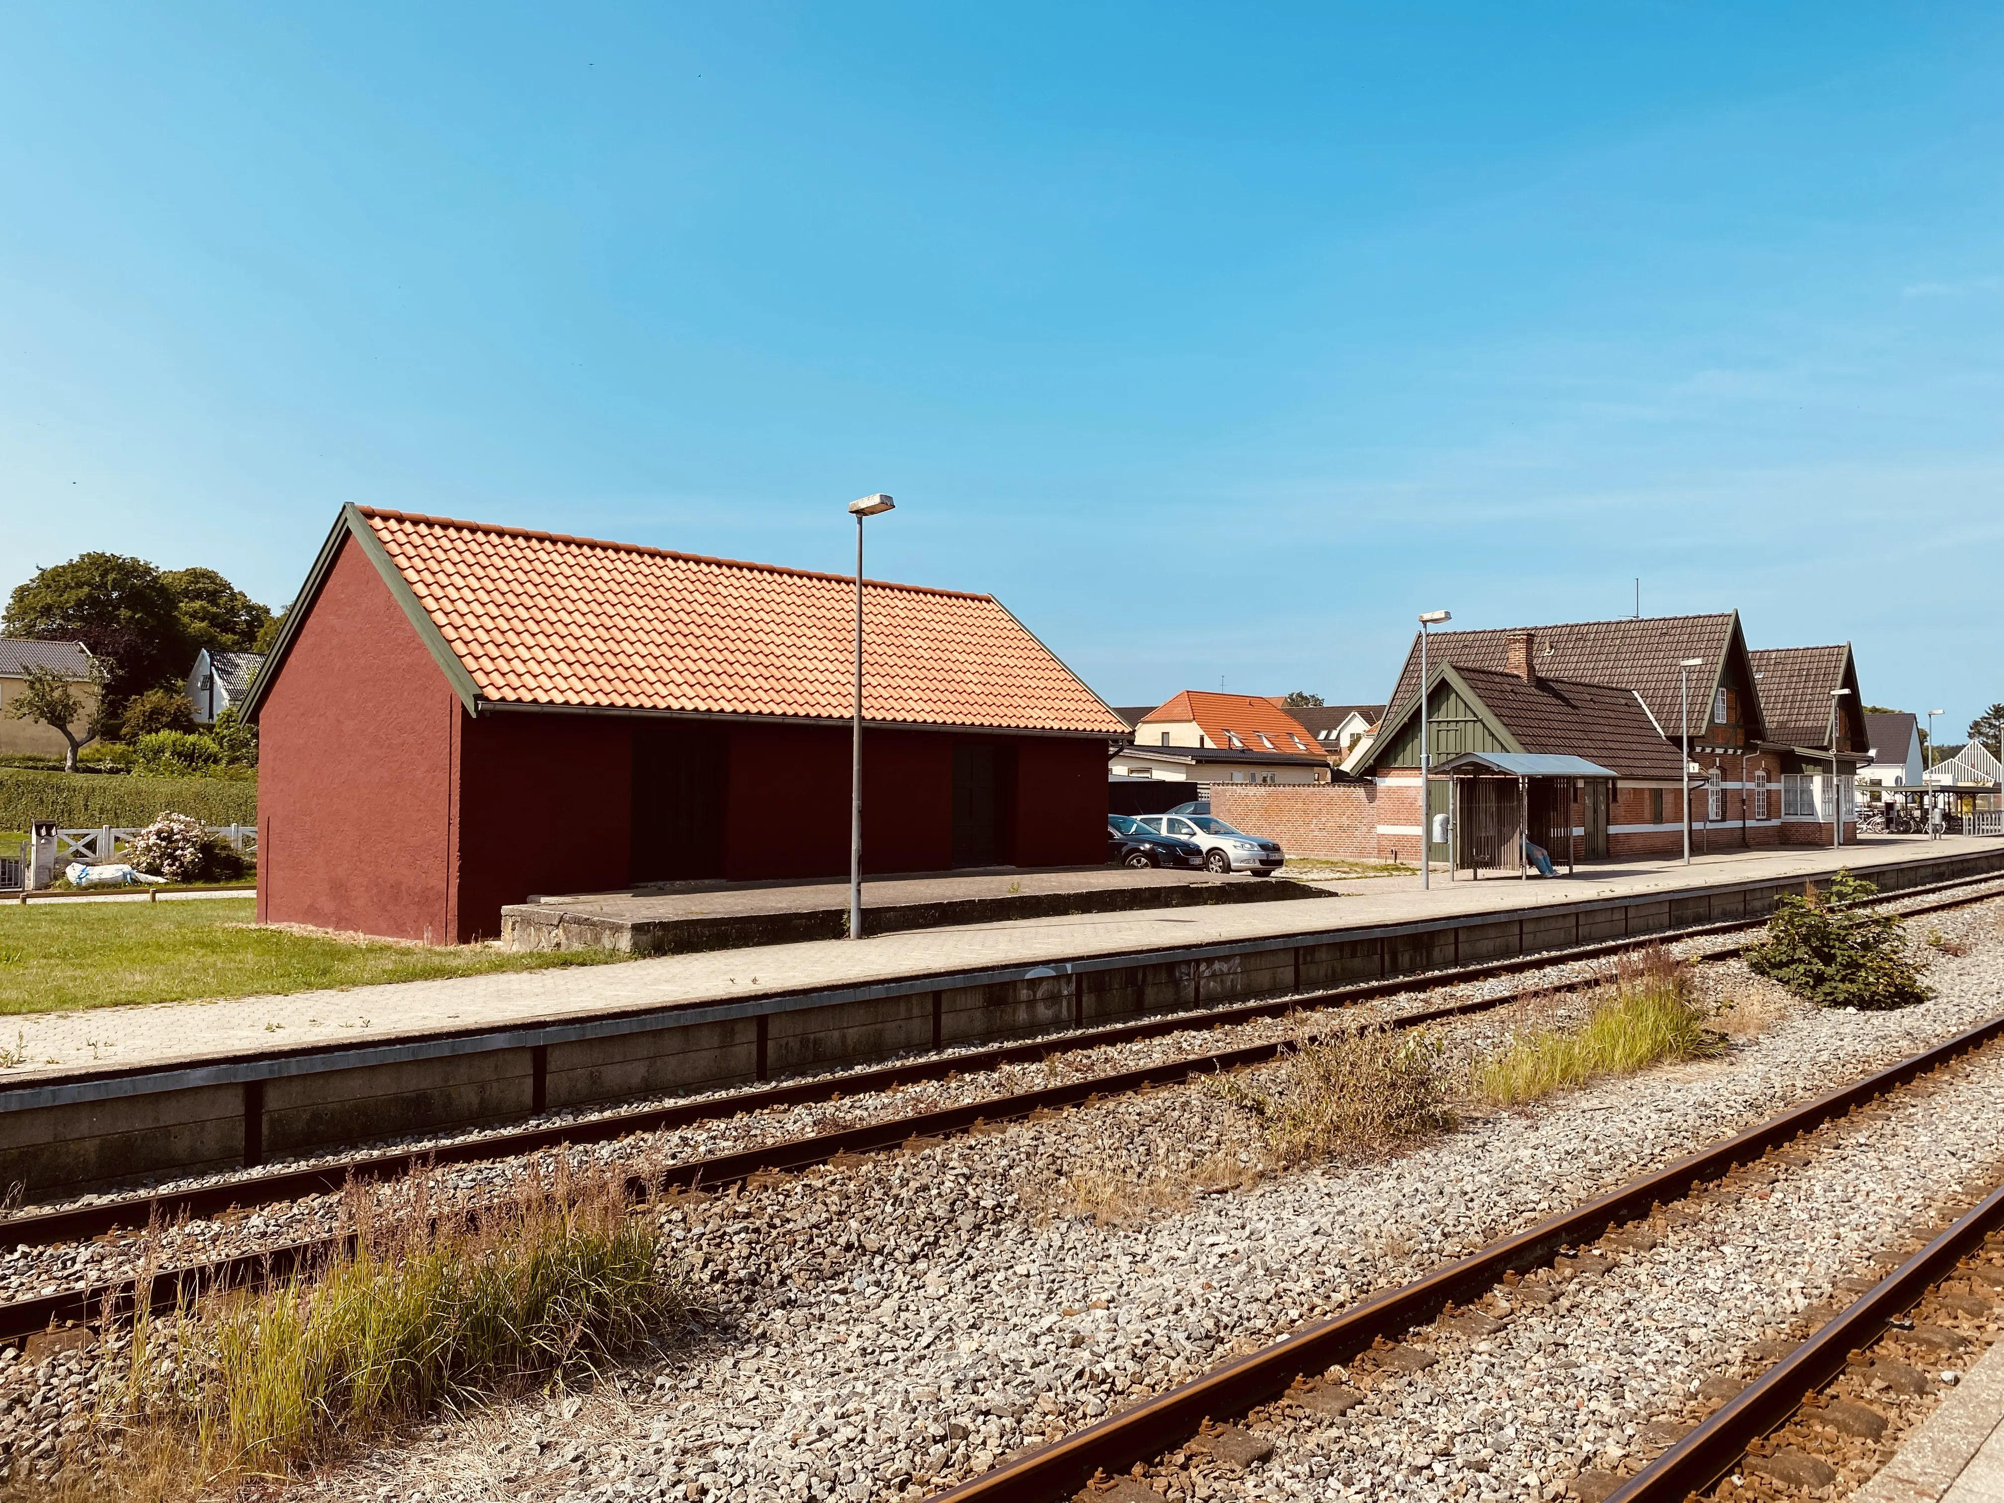
[[[1455,1124],[1441,1058],[1437,1034],[1367,1026],[1297,1038],[1271,1092],[1232,1076],[1214,1090],[1261,1118],[1279,1164],[1367,1156]]]

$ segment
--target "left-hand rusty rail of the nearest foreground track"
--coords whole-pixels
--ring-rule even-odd
[[[1439,1317],[1451,1303],[1471,1303],[1505,1273],[1523,1273],[1559,1248],[1591,1242],[1611,1226],[1643,1218],[1655,1204],[1675,1200],[1693,1186],[1715,1180],[1733,1166],[1751,1162],[1876,1096],[1912,1084],[1922,1074],[1998,1036],[2004,1036],[2004,1016],[1794,1106],[1537,1226],[1497,1238],[1423,1279],[1373,1295],[1329,1321],[1303,1327],[1271,1347],[1224,1363],[1178,1389],[1146,1399],[934,1497],[940,1503],[948,1499],[952,1503],[1050,1503],[1070,1497],[1096,1473],[1124,1473],[1136,1461],[1148,1461],[1174,1449],[1194,1435],[1206,1419],[1242,1415],[1271,1403],[1287,1393],[1297,1379],[1321,1375],[1351,1361],[1369,1351],[1379,1337],[1401,1337]],[[1681,1499],[1681,1493],[1675,1497]]]

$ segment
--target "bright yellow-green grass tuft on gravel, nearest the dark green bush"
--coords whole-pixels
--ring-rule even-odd
[[[1535,1026],[1469,1070],[1469,1094],[1491,1106],[1523,1106],[1597,1076],[1717,1054],[1691,996],[1689,966],[1661,946],[1621,956],[1611,986],[1573,1028]]]

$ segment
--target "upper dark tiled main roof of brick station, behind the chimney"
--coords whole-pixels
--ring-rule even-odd
[[[1545,627],[1507,627],[1501,631],[1435,631],[1427,641],[1427,665],[1509,667],[1509,639],[1519,631],[1537,637],[1535,667],[1541,675],[1569,683],[1609,683],[1633,689],[1655,713],[1659,725],[1677,723],[1679,677],[1677,663],[1701,657],[1703,667],[1691,669],[1691,717],[1703,717],[1695,705],[1711,701],[1713,679],[1725,661],[1737,617],[1719,615],[1647,615],[1615,621],[1561,621]],[[1419,683],[1419,637],[1407,651],[1405,667],[1391,701],[1399,707],[1413,697]],[[1585,754],[1581,754],[1585,756]]]

